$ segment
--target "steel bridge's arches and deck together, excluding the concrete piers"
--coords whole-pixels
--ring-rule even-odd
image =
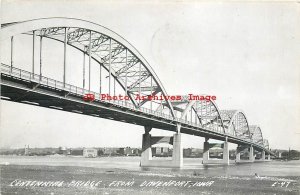
[[[25,70],[22,64],[14,64],[14,38],[25,35],[32,39],[31,70]],[[40,38],[39,64],[35,62],[37,37]],[[60,80],[45,76],[47,72],[43,72],[45,39],[63,45]],[[10,62],[1,62],[1,99],[217,140],[226,138],[232,143],[252,145],[272,154],[261,129],[249,125],[241,110],[220,110],[212,100],[188,100],[186,96],[180,101],[137,99],[138,96],[168,97],[168,94],[138,50],[106,27],[74,18],[35,19],[2,24],[1,42],[4,40],[10,40],[11,56]],[[70,64],[66,53],[71,49],[83,56],[82,86],[70,84],[68,80],[72,73],[67,71]],[[95,72],[99,81],[97,91],[91,87]],[[94,94],[95,100],[83,101],[87,93]],[[129,101],[103,100],[101,94],[124,94]]]

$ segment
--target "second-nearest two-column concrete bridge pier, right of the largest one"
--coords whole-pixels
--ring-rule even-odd
[[[225,142],[222,144],[223,148],[223,157],[221,160],[212,160],[209,158],[209,149],[213,147],[213,144],[209,144],[208,138],[205,138],[204,146],[203,146],[203,160],[202,164],[224,164],[229,165],[229,147],[227,138]]]

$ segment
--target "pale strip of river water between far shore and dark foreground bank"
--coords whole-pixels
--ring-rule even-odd
[[[0,165],[80,166],[203,176],[254,176],[255,173],[259,176],[300,176],[300,160],[243,164],[231,161],[229,166],[202,165],[201,162],[201,158],[184,158],[183,168],[174,169],[141,168],[140,157],[0,156]]]

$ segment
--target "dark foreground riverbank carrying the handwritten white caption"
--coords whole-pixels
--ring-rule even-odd
[[[1,194],[299,194],[300,177],[205,176],[144,169],[1,165]],[[162,169],[161,169],[162,170]]]

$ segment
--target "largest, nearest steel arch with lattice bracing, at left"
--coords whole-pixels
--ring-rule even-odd
[[[160,79],[140,52],[122,36],[104,26],[62,17],[2,24],[1,39],[9,39],[19,34],[35,34],[63,43],[66,39],[68,46],[90,55],[100,67],[109,72],[137,108],[150,104],[149,100],[137,101],[134,98],[137,95],[167,96]],[[154,103],[158,105],[158,102]],[[166,100],[166,107],[174,118],[170,100]]]

